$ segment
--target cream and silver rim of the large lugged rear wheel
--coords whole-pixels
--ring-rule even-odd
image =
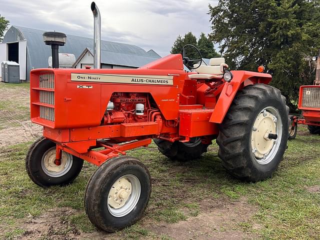
[[[269,139],[269,133],[277,134]],[[271,162],[281,144],[282,120],[279,111],[273,106],[264,107],[256,116],[250,137],[251,152],[255,161],[261,165]]]

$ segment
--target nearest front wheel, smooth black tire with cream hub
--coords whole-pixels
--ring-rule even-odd
[[[113,232],[141,218],[151,194],[151,177],[134,157],[113,157],[92,174],[84,194],[85,212],[97,228]]]

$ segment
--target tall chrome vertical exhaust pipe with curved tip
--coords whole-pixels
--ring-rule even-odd
[[[101,67],[101,17],[100,11],[94,1],[91,3],[91,11],[94,18],[94,31],[93,31],[93,54],[94,54],[94,63],[93,68]]]

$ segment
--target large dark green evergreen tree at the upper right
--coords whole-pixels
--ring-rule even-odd
[[[211,40],[231,69],[266,66],[287,98],[297,99],[299,86],[312,84],[305,56],[320,48],[319,0],[219,0],[209,14]]]

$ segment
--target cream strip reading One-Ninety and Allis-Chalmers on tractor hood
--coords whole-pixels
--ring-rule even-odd
[[[71,73],[71,81],[173,85],[173,76]]]

